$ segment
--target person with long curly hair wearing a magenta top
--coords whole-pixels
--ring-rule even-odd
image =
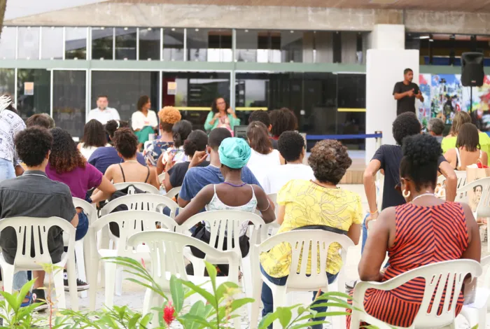
[[[96,121],[96,120],[94,120]],[[99,121],[96,121],[102,126]],[[116,192],[116,188],[94,166],[87,163],[71,135],[66,130],[55,128],[51,130],[52,148],[46,176],[53,181],[65,183],[73,197],[85,200],[89,203],[106,200]],[[98,188],[104,193],[99,194],[99,199],[92,200],[87,197],[87,191]],[[88,218],[83,209],[77,208],[78,225],[76,227],[76,241],[83,239],[88,231]],[[88,284],[77,279],[78,290],[88,289]],[[68,288],[68,280],[65,277],[65,288]]]

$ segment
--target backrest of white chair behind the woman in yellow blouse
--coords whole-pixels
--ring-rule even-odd
[[[330,244],[339,244],[342,262],[345,264],[347,248],[353,246],[353,242],[346,235],[325,230],[294,230],[283,232],[255,246],[257,257],[252,258],[254,275],[260,275],[258,255],[269,251],[279,244],[289,244],[291,248],[290,273],[286,285],[297,290],[315,290],[322,288],[328,291],[328,279],[326,274],[327,255]],[[307,274],[308,256],[311,255],[311,274]],[[301,259],[300,259],[301,258]],[[320,267],[318,268],[318,260]],[[297,269],[300,269],[297,272]]]

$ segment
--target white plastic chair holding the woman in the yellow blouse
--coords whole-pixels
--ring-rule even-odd
[[[251,311],[251,328],[258,326],[258,313],[260,307],[260,295],[262,293],[262,282],[272,290],[274,297],[274,311],[277,307],[286,306],[286,294],[291,291],[315,291],[321,289],[323,293],[328,292],[328,279],[326,272],[328,248],[330,244],[337,242],[341,246],[339,254],[342,263],[345,263],[347,257],[347,248],[353,246],[353,242],[346,235],[339,235],[334,232],[325,230],[295,230],[279,233],[258,244],[254,248],[255,254],[252,259],[253,276],[257,278],[253,281],[253,308]],[[260,253],[264,253],[281,243],[290,244],[291,247],[291,265],[288,279],[284,286],[276,286],[270,282],[260,272]],[[304,246],[307,246],[304,248]],[[319,251],[319,253],[318,253]],[[308,255],[311,255],[311,275],[307,276]],[[301,257],[301,262],[300,262]],[[320,268],[318,269],[318,259],[320,259]],[[300,272],[296,269],[300,267]],[[337,279],[332,285],[337,283],[337,291],[345,289],[345,278],[343,269],[340,269]],[[339,318],[342,321],[341,318]],[[274,329],[281,328],[279,321],[274,321]],[[334,328],[340,328],[334,325]]]

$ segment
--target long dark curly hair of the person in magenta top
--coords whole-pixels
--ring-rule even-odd
[[[53,128],[49,163],[58,174],[71,172],[76,167],[85,168],[87,160],[76,148],[71,134],[61,128]]]

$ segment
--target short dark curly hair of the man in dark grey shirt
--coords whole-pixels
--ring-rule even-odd
[[[32,126],[15,135],[15,151],[27,167],[37,167],[43,163],[52,148],[49,130]]]

